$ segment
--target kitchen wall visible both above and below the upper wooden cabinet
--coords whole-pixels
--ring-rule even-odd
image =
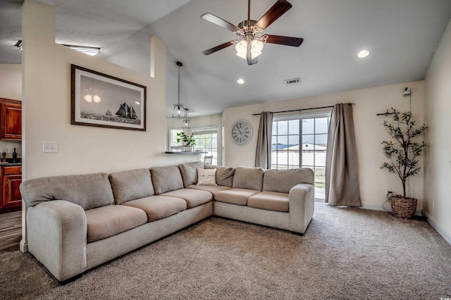
[[[0,64],[0,98],[22,100],[22,65]],[[0,140],[1,151],[6,151],[6,157],[13,157],[16,148],[18,158],[22,156],[22,146],[17,141]]]

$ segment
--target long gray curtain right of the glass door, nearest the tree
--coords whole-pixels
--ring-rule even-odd
[[[335,104],[327,141],[326,203],[362,206],[357,170],[352,104]]]

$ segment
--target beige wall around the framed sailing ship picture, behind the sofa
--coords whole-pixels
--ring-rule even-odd
[[[112,172],[190,161],[166,150],[166,46],[156,37],[155,77],[54,43],[54,8],[23,4],[24,178]],[[150,41],[149,41],[150,43]],[[70,125],[70,64],[147,87],[147,131]],[[150,66],[149,66],[150,67]],[[58,142],[58,153],[42,153]]]

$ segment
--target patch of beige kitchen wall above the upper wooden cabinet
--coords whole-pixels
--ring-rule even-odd
[[[0,98],[22,100],[22,65],[0,64]]]

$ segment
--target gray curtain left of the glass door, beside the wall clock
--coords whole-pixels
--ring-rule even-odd
[[[263,111],[260,115],[259,135],[257,137],[257,151],[255,166],[271,169],[271,135],[273,132],[273,113]]]

